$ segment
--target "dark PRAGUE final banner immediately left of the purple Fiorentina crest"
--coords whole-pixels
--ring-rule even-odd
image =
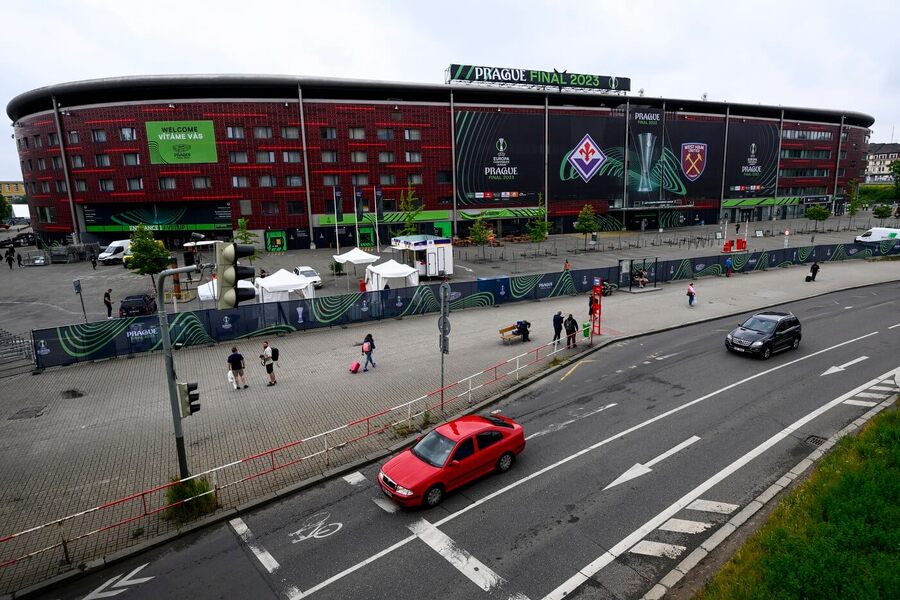
[[[544,189],[544,115],[458,111],[457,202],[536,205]]]

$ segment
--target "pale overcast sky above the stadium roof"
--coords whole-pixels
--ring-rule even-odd
[[[0,103],[119,75],[443,82],[450,63],[631,77],[648,96],[845,109],[900,140],[891,0],[2,0]],[[9,120],[7,119],[7,127]],[[12,128],[7,129],[7,134]],[[20,180],[0,137],[0,179]]]

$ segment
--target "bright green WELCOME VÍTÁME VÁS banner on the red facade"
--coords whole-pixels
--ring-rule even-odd
[[[152,164],[218,162],[212,121],[147,121],[146,126]]]

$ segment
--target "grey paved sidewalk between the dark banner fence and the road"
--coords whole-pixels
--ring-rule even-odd
[[[794,267],[737,274],[728,279],[699,279],[698,304],[693,309],[687,307],[687,282],[663,284],[660,291],[652,293],[617,292],[603,299],[606,335],[602,339],[900,280],[900,263],[826,263],[811,284],[803,281],[806,272],[805,267]],[[446,381],[456,381],[549,342],[551,317],[558,310],[564,315],[573,313],[581,323],[587,316],[587,297],[453,312]],[[498,328],[523,318],[533,324],[533,341],[502,345]],[[358,344],[366,333],[375,338],[378,367],[350,375],[347,366],[360,358]],[[246,357],[250,387],[239,391],[234,391],[225,378],[230,346],[177,352],[178,378],[200,383],[202,410],[183,420],[191,472],[323,432],[438,388],[437,337],[436,315],[428,315],[270,338],[270,344],[281,354],[274,387],[265,386],[265,372],[256,358],[262,339],[244,340],[237,345]],[[579,350],[582,343],[579,333]],[[544,365],[546,362],[542,368]],[[55,368],[39,376],[5,380],[0,403],[5,416],[0,421],[0,536],[165,483],[177,474],[163,377],[162,355],[156,354]],[[501,389],[498,384],[486,392],[493,394]],[[37,409],[40,416],[12,419],[23,409]],[[386,446],[396,440],[382,442]],[[348,447],[347,462],[371,451],[371,447]],[[235,487],[228,503],[240,505],[295,483],[294,477],[312,475],[309,469],[334,466],[310,463],[304,466],[306,471],[260,477],[252,485]],[[164,533],[170,526],[162,522],[154,527],[136,535],[140,538],[136,541]],[[111,549],[135,543],[129,540],[134,529],[124,529],[127,531],[109,542]],[[0,563],[11,558],[7,550],[0,545]],[[108,550],[100,547],[94,552],[102,555]],[[0,593],[22,585],[21,580],[11,582],[8,575],[12,573],[0,570]]]

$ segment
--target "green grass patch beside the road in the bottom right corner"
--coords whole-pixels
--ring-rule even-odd
[[[896,408],[896,404],[895,404]],[[695,598],[900,597],[900,411],[844,437]]]

